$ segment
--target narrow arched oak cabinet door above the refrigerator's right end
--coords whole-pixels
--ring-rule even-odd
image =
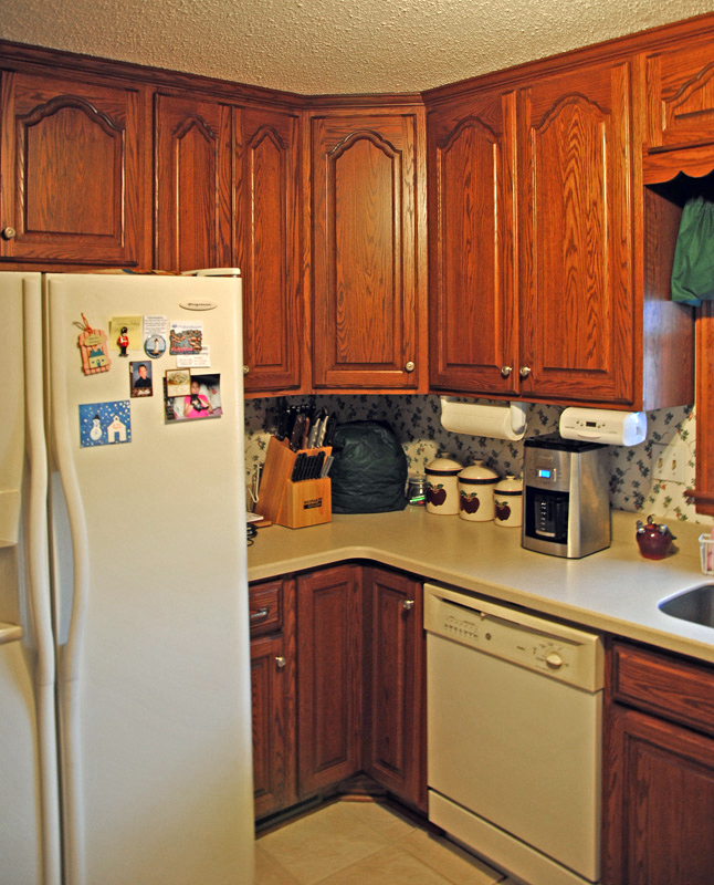
[[[231,267],[232,108],[162,93],[154,103],[156,267]]]

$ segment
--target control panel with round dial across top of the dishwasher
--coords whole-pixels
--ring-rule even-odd
[[[596,634],[432,584],[424,584],[424,628],[579,688],[602,688]]]

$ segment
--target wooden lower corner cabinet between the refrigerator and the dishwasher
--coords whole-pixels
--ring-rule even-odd
[[[426,811],[420,582],[342,564],[250,598],[256,818],[360,772]]]

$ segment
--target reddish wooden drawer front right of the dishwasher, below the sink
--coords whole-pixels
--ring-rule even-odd
[[[616,643],[612,697],[714,735],[714,669]]]

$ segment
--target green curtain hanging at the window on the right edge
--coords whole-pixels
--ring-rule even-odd
[[[672,264],[672,300],[714,299],[714,202],[694,197],[682,209]]]

